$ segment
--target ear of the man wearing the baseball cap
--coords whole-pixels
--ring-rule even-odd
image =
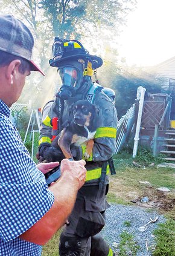
[[[14,80],[17,79],[20,65],[21,65],[21,61],[19,61],[19,59],[14,59],[14,61],[11,61],[10,64],[8,65],[7,71],[6,71],[8,84],[13,85]]]

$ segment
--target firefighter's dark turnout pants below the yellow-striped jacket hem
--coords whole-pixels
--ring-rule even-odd
[[[69,225],[60,235],[60,256],[113,256],[112,250],[99,234],[104,227],[108,185],[83,186],[77,194]]]

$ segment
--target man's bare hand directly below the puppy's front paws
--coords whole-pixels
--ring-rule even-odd
[[[69,161],[68,159],[63,159],[61,163],[62,175],[69,175],[70,179],[76,179],[78,182],[78,189],[83,186],[86,180],[86,168],[84,167],[86,162],[82,159],[80,161]]]

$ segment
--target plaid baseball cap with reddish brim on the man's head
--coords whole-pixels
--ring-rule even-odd
[[[31,71],[42,70],[31,61],[34,39],[28,27],[11,15],[0,15],[0,50],[23,57],[30,62]]]

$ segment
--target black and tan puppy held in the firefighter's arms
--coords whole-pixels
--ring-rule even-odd
[[[88,100],[78,100],[71,107],[73,118],[71,122],[62,130],[56,139],[52,142],[56,146],[56,142],[62,149],[67,159],[72,158],[70,145],[86,145],[84,158],[91,156],[94,146],[94,136],[98,127],[99,110]]]

